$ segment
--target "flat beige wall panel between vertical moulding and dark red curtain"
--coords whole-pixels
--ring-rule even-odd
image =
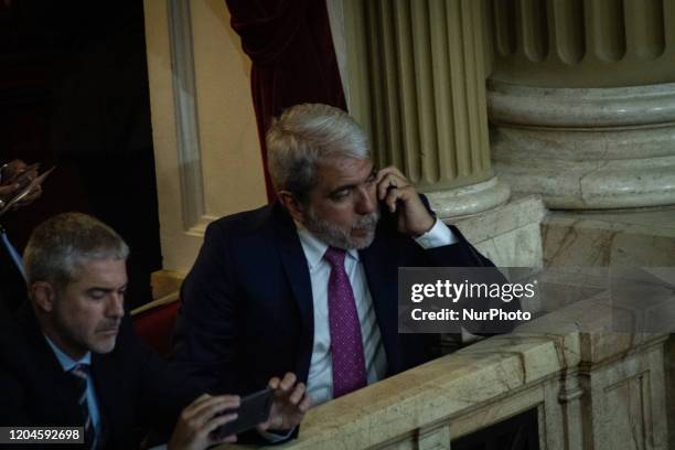
[[[229,26],[224,1],[191,6],[206,212],[222,216],[267,201],[250,62]]]

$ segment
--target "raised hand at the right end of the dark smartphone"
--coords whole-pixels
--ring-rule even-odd
[[[269,419],[258,425],[258,430],[290,430],[300,425],[312,403],[304,384],[296,384],[296,375],[289,372],[283,379],[274,377],[269,381],[268,386],[275,389],[275,400]]]

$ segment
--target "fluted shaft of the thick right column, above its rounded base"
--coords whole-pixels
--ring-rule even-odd
[[[673,0],[488,0],[492,78],[525,86],[675,81]]]

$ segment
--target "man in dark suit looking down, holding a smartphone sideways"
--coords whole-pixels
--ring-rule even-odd
[[[212,431],[235,418],[227,410],[239,398],[199,396],[124,319],[128,253],[111,228],[84,214],[35,228],[24,254],[30,302],[0,336],[0,425],[83,427],[93,449],[138,448],[148,429],[173,429],[170,449],[223,440]],[[298,395],[288,378],[270,381],[278,387],[270,421],[283,427],[303,413],[294,401],[303,389]]]

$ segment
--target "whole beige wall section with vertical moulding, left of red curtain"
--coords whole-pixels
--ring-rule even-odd
[[[249,63],[221,0],[146,0],[163,268],[186,271],[213,219],[266,200]]]

